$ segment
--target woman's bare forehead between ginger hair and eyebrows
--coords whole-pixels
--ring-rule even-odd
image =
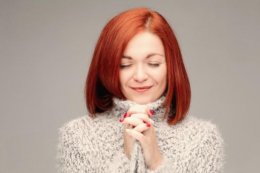
[[[126,45],[124,56],[140,57],[151,53],[158,53],[164,56],[164,46],[158,36],[148,31],[136,34]]]

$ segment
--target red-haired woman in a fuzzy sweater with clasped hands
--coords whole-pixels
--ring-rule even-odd
[[[96,45],[89,115],[60,128],[60,173],[217,173],[217,126],[187,116],[191,91],[175,35],[148,8],[115,16]]]

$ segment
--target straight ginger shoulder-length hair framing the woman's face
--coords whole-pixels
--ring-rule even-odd
[[[188,114],[191,89],[177,39],[170,25],[156,11],[134,8],[112,18],[105,26],[96,44],[90,64],[85,100],[93,118],[95,113],[110,110],[113,96],[126,99],[120,91],[119,66],[127,43],[141,31],[156,34],[162,41],[167,64],[167,94],[163,120],[168,110],[167,124],[174,125]]]

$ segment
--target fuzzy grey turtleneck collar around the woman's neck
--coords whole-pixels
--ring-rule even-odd
[[[150,110],[154,112],[154,115],[151,117],[151,119],[153,119],[156,122],[161,122],[163,119],[163,115],[166,109],[166,106],[163,105],[163,102],[166,98],[166,94],[167,92],[165,91],[156,101],[145,104],[147,107],[149,107]],[[112,111],[116,111],[118,113],[117,118],[120,119],[123,118],[123,115],[129,110],[130,107],[138,104],[134,101],[121,99],[116,96],[114,96],[112,100],[113,100]],[[167,117],[163,121],[166,120]]]

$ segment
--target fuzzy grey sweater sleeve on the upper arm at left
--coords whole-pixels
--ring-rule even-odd
[[[57,145],[58,173],[95,173],[95,151],[88,138],[83,136],[79,127],[68,123],[59,129]]]

